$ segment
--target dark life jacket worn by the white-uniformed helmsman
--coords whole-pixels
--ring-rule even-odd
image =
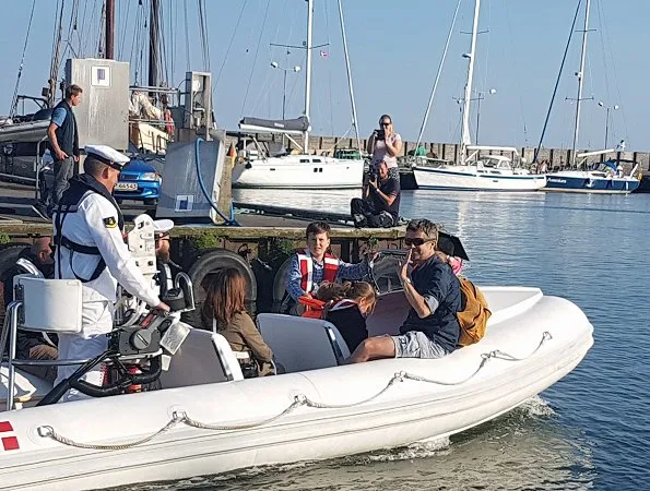
[[[70,270],[76,279],[81,283],[88,283],[94,282],[99,277],[99,275],[106,270],[106,262],[104,258],[102,258],[102,253],[99,249],[95,246],[84,246],[79,242],[74,242],[70,240],[68,237],[63,236],[63,221],[69,213],[76,213],[79,209],[79,205],[85,197],[87,197],[91,193],[97,193],[106,197],[117,209],[117,226],[120,230],[125,228],[125,217],[115,201],[115,197],[108,192],[106,187],[97,181],[93,176],[90,173],[82,173],[79,176],[74,176],[70,179],[70,187],[63,192],[61,196],[61,201],[59,202],[58,206],[55,208],[55,251],[57,253],[57,264],[58,264],[58,278],[62,277],[61,274],[61,248],[66,248],[70,250]],[[91,275],[90,278],[82,278],[72,268],[72,255],[74,252],[80,252],[82,254],[88,255],[98,255],[99,262],[97,263],[97,267]]]

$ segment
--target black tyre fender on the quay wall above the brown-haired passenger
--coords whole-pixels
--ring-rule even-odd
[[[234,267],[244,275],[246,279],[246,308],[249,312],[255,312],[258,292],[257,280],[248,261],[236,252],[226,249],[204,249],[194,255],[187,268],[192,280],[196,303],[196,309],[187,313],[188,324],[194,327],[201,325],[201,306],[205,301],[204,285],[214,273],[224,267]]]

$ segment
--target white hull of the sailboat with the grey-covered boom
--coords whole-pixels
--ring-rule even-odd
[[[247,160],[233,168],[234,188],[361,188],[364,161],[315,155],[286,155]]]

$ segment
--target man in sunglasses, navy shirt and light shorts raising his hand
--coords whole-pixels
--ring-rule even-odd
[[[460,283],[436,254],[437,242],[436,225],[427,219],[409,223],[404,243],[411,249],[400,279],[411,309],[401,334],[365,339],[350,357],[350,363],[380,358],[441,358],[456,349],[460,336],[456,316],[461,310]]]

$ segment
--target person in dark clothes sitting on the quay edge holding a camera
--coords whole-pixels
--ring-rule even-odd
[[[400,180],[391,177],[388,165],[381,160],[377,173],[364,182],[363,199],[350,202],[355,227],[394,227],[400,216]]]

